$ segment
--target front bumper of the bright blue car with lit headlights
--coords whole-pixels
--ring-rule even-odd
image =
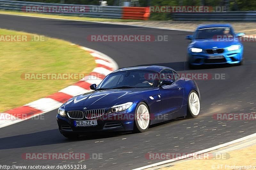
[[[222,56],[222,58],[213,58]],[[227,51],[221,54],[207,54],[204,50],[200,53],[188,51],[188,62],[190,65],[204,64],[238,64],[243,59],[243,49]]]

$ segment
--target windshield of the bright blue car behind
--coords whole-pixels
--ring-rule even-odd
[[[217,37],[234,37],[230,28],[207,28],[200,29],[196,33],[195,39],[213,39]]]

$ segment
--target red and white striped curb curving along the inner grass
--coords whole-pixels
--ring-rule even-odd
[[[80,81],[60,90],[59,92],[53,93],[47,97],[38,99],[21,107],[0,113],[0,128],[57,109],[68,99],[79,94],[92,91],[90,89],[91,84],[99,84],[105,76],[118,69],[116,62],[108,55],[91,48],[81,46],[79,46],[79,48],[88,51],[94,57],[96,67],[92,70],[92,72],[82,78]]]

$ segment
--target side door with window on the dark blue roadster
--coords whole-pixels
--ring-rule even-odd
[[[160,86],[160,99],[161,99],[161,112],[164,117],[168,119],[176,118],[178,111],[183,104],[183,87],[180,83],[179,76],[172,70],[163,70],[160,73],[161,79],[172,79],[174,82],[172,85],[162,85]],[[159,83],[161,83],[161,79]]]

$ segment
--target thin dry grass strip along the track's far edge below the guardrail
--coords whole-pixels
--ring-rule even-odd
[[[33,16],[33,17],[47,17],[47,18],[59,18],[59,19],[70,19],[79,21],[95,21],[95,22],[130,22],[130,21],[141,21],[137,19],[118,19],[118,18],[94,18],[94,17],[83,17],[83,16],[66,16],[58,14],[42,14],[42,13],[32,13],[32,12],[20,12],[20,11],[6,11],[0,10],[0,14],[11,14],[11,15],[22,15],[22,16]]]

